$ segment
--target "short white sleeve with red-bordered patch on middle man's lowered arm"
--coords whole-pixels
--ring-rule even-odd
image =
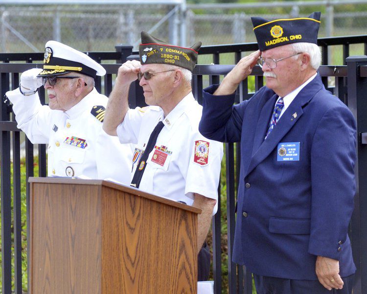
[[[208,144],[207,159],[206,151],[198,154],[196,146],[204,143]],[[196,153],[196,154],[195,154]],[[201,155],[203,155],[201,157]],[[194,193],[218,200],[218,185],[223,157],[223,143],[208,140],[200,133],[196,133],[191,138],[190,161],[186,175],[185,195],[192,198]],[[197,162],[201,162],[199,164]],[[207,162],[207,163],[206,163]],[[213,214],[217,211],[218,202],[215,205]]]

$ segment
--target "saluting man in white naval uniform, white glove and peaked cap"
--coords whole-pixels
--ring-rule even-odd
[[[18,127],[33,144],[48,143],[48,176],[130,183],[132,146],[102,129],[108,98],[96,91],[94,78],[105,73],[88,55],[48,41],[43,70],[22,73],[19,88],[6,93]],[[48,106],[37,93],[42,84]]]

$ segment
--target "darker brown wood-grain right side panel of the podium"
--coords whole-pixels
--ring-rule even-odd
[[[197,215],[103,189],[102,289],[110,291],[104,293],[196,293]],[[111,252],[116,258],[105,258]]]

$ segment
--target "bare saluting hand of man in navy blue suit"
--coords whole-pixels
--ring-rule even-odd
[[[260,55],[260,50],[257,50],[243,57],[226,75],[218,89],[214,92],[214,95],[230,95],[236,91],[239,83],[252,72],[252,68],[256,65]]]

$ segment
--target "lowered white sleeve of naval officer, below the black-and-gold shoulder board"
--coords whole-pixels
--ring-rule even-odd
[[[101,128],[95,150],[98,178],[130,185],[134,145],[120,144],[115,136],[107,135]]]

